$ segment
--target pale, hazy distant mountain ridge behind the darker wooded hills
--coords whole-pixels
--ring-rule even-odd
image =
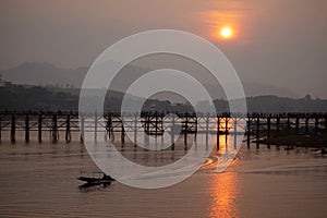
[[[2,78],[15,84],[29,84],[29,85],[51,85],[56,87],[81,87],[84,76],[87,73],[88,68],[77,69],[61,69],[51,63],[37,63],[26,62],[15,68],[2,70]],[[142,75],[145,72],[150,71],[137,65],[129,65],[124,69],[124,73],[133,75]],[[121,92],[121,87],[125,84],[116,84],[113,89]],[[225,94],[220,87],[213,84],[205,84],[210,93],[215,94],[215,98],[223,98]],[[253,82],[243,82],[245,95],[247,97],[259,95],[275,95],[280,97],[299,98],[303,97],[296,93],[290,90],[287,87],[277,87],[274,85],[259,84]]]

